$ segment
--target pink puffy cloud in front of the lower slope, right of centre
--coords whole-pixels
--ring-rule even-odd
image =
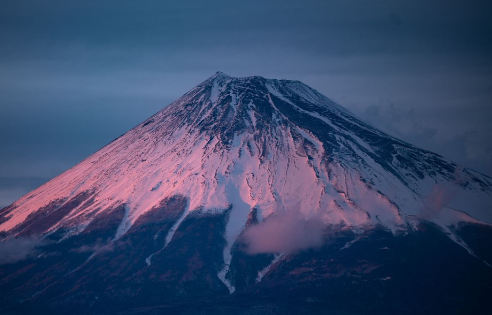
[[[323,244],[326,225],[317,216],[306,218],[296,210],[272,214],[244,230],[249,254],[294,253]]]

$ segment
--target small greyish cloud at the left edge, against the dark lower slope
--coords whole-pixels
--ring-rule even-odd
[[[13,264],[39,255],[46,241],[39,238],[14,238],[0,242],[0,265]]]

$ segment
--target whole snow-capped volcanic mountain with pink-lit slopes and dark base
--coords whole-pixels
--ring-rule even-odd
[[[0,211],[11,313],[475,313],[492,178],[217,72]]]

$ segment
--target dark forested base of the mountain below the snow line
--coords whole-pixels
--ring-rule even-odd
[[[176,219],[185,202],[174,199],[156,208],[154,215],[166,212],[167,218]],[[488,226],[456,227],[478,257],[430,223],[398,235],[378,228],[361,235],[329,233],[322,248],[286,255],[259,283],[253,276],[270,257],[237,253],[231,263],[237,290],[229,295],[217,278],[223,266],[216,263],[222,256],[225,216],[227,212],[188,217],[163,249],[162,229],[169,229],[172,222],[156,222],[152,212],[113,248],[88,261],[92,253],[73,250],[81,246],[79,236],[46,245],[45,258],[0,267],[2,313],[490,312],[492,268],[483,261],[490,258]],[[94,243],[109,236],[96,223],[86,233],[85,239]],[[145,258],[158,250],[147,265]]]

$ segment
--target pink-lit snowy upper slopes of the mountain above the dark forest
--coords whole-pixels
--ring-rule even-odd
[[[253,208],[260,221],[296,209],[326,224],[395,231],[425,219],[447,230],[492,223],[491,187],[491,178],[378,131],[299,81],[218,72],[4,208],[0,231],[63,227],[69,236],[125,204],[119,238],[161,200],[182,195],[187,210],[163,246],[189,213],[230,208],[227,268]],[[33,228],[54,210],[57,217]]]

